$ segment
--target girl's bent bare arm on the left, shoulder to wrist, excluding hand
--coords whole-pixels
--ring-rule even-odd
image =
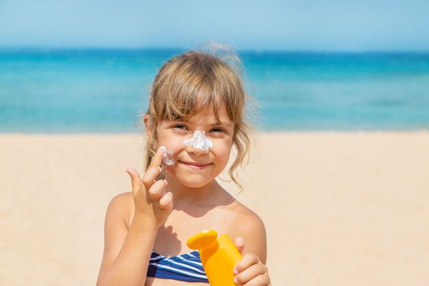
[[[104,226],[104,252],[97,286],[144,285],[157,228],[134,217],[130,230],[125,219],[125,194],[112,199]]]

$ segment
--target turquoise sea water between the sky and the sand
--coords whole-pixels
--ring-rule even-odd
[[[179,50],[0,50],[0,132],[136,132]],[[241,51],[258,130],[429,130],[429,53]]]

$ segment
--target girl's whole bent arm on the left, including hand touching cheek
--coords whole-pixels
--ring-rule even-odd
[[[123,197],[115,197],[108,206],[104,254],[97,286],[145,284],[156,233],[173,208],[173,194],[164,190],[167,180],[156,180],[162,171],[159,167],[162,154],[162,149],[158,149],[141,178],[135,169],[127,169],[134,200],[130,230],[125,223],[127,214]]]

